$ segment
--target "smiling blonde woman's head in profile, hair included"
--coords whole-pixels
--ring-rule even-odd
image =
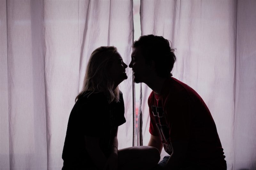
[[[86,91],[104,92],[109,103],[119,100],[118,85],[127,79],[125,73],[127,65],[117,52],[116,47],[99,47],[95,49],[88,61],[82,91],[76,100]]]

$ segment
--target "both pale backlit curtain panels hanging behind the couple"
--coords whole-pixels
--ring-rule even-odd
[[[204,99],[228,169],[256,169],[256,1],[141,1],[141,33],[176,48],[173,77]],[[0,0],[0,169],[60,169],[86,63],[114,45],[130,62],[132,1]],[[119,148],[132,146],[132,72]],[[142,84],[142,137],[149,140]]]

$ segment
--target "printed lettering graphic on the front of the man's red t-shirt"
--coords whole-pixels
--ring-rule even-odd
[[[156,128],[161,138],[165,152],[172,152],[172,145],[170,142],[169,128],[164,117],[163,107],[152,106],[152,114],[154,115]]]

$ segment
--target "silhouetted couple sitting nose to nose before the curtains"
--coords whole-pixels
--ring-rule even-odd
[[[127,65],[115,47],[95,49],[68,120],[62,170],[227,169],[204,101],[188,85],[172,78],[175,60],[162,36],[141,36],[133,43],[129,67],[134,81],[153,90],[148,98],[151,137],[148,146],[118,150],[117,129],[125,122],[118,85],[127,79]],[[170,156],[159,162],[163,147]]]

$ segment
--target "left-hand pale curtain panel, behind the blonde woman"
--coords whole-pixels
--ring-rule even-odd
[[[0,12],[0,169],[61,169],[90,54],[114,45],[130,61],[132,1],[1,0]],[[132,146],[132,70],[126,73],[119,148]]]

